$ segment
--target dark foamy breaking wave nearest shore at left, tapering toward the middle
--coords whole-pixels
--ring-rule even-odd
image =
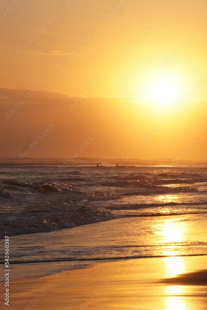
[[[49,232],[64,228],[103,222],[115,219],[110,211],[89,204],[67,203],[59,206],[45,205],[27,208],[26,212],[2,214],[0,238],[36,232]]]

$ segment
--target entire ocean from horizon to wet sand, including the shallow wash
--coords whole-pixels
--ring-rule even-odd
[[[207,255],[206,194],[200,166],[2,164],[0,236],[10,237],[14,279],[23,270],[38,277],[103,261]]]

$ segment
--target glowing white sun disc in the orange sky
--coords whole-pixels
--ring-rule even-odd
[[[183,90],[183,84],[178,77],[157,75],[149,79],[145,99],[156,106],[169,106],[182,97]]]

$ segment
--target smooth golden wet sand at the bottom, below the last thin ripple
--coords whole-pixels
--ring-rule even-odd
[[[10,309],[204,310],[205,268],[206,256],[146,258],[11,281]]]

